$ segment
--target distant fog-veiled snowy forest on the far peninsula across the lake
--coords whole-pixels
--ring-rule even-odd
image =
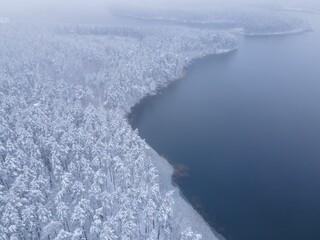
[[[240,7],[195,8],[179,10],[163,8],[115,9],[115,14],[140,20],[165,21],[170,24],[218,27],[225,29],[241,28],[243,35],[273,35],[309,31],[307,22],[285,13],[282,9],[256,9]]]

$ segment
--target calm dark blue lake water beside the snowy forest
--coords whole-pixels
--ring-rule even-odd
[[[310,16],[320,24],[319,15]],[[320,239],[320,30],[241,38],[133,109],[133,128],[227,240]]]

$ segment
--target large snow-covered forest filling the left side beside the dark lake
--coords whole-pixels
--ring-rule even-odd
[[[236,37],[3,19],[0,239],[200,239],[126,116],[193,59],[235,50]]]

